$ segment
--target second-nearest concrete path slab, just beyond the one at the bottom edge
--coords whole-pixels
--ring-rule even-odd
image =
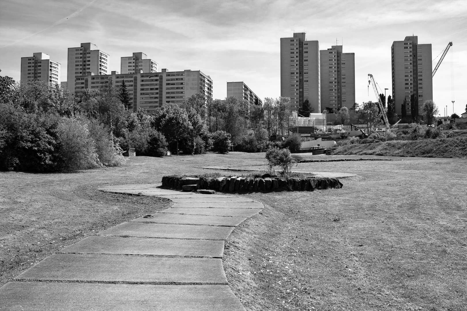
[[[52,254],[15,280],[227,284],[220,258]]]

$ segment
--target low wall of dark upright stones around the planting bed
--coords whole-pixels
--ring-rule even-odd
[[[264,175],[263,175],[264,176]],[[181,190],[185,185],[195,185],[196,189],[211,189],[222,192],[255,192],[255,191],[314,191],[324,189],[340,189],[342,183],[337,178],[280,178],[280,177],[237,177],[223,176],[219,178],[192,178],[184,176],[164,176],[164,188]]]

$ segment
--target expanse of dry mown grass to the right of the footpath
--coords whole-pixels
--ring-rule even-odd
[[[268,207],[224,258],[247,310],[466,310],[462,160],[312,166],[359,176],[340,190],[248,195]]]

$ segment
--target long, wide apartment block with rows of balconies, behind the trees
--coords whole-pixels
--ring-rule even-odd
[[[112,71],[110,75],[93,75],[88,73],[82,76],[76,87],[78,91],[85,89],[99,89],[112,81],[114,85],[120,86],[123,81],[127,87],[130,98],[133,101],[133,111],[139,107],[147,112],[154,112],[154,109],[169,103],[183,103],[196,93],[201,93],[212,98],[212,79],[200,70],[183,70],[133,74],[119,74]]]

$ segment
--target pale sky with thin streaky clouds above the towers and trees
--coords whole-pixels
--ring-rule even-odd
[[[92,42],[120,57],[143,52],[169,71],[201,70],[213,97],[226,82],[243,81],[261,98],[280,96],[280,38],[306,32],[320,49],[336,42],[355,53],[356,102],[376,100],[368,74],[391,93],[391,45],[417,35],[433,59],[453,46],[433,77],[441,115],[465,111],[467,95],[465,0],[1,0],[0,75],[20,78],[21,57],[35,52],[62,64],[67,48]],[[337,40],[337,41],[336,41]],[[438,62],[435,59],[433,68]]]

